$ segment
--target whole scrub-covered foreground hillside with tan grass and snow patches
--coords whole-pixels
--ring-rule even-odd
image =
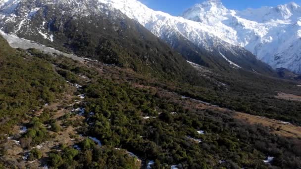
[[[1,43],[1,110],[11,110],[1,114],[3,168],[264,169],[298,168],[301,163],[300,133],[286,134],[290,126],[285,125],[292,124],[251,124],[234,111],[290,117],[271,112],[285,105],[281,110],[298,113],[300,102],[271,97],[272,85],[254,93],[266,90],[261,83],[295,89],[294,83],[258,76],[250,87],[250,79],[217,76],[227,87],[211,87],[210,81],[192,86]],[[241,97],[241,85],[250,94]],[[293,121],[298,125],[298,116]]]

